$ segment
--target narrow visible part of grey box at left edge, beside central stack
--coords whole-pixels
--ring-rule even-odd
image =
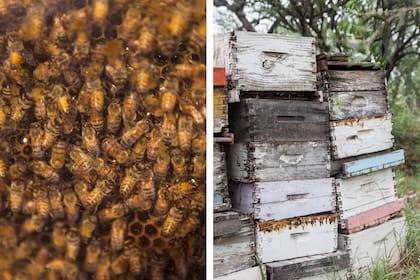
[[[213,145],[213,210],[230,209],[226,169],[226,155],[221,151],[220,144]]]

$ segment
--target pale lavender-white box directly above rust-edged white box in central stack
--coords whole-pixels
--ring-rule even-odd
[[[333,178],[231,183],[232,206],[260,221],[335,211]]]

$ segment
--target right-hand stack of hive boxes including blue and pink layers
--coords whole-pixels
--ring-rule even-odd
[[[318,88],[329,103],[331,174],[336,177],[339,247],[351,272],[366,275],[378,259],[399,259],[406,229],[396,197],[393,136],[383,71],[346,55],[318,57]]]

